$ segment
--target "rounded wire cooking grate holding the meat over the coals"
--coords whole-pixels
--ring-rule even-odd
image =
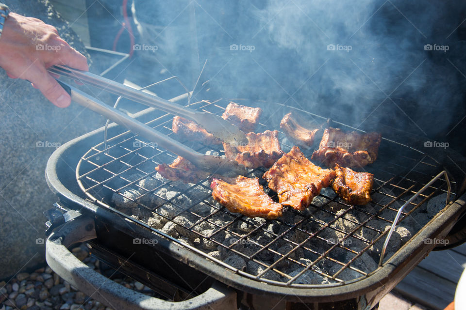
[[[200,101],[191,108],[221,115],[228,102]],[[277,115],[279,120],[291,109],[295,108],[276,104],[264,111],[262,119],[272,123],[270,120]],[[299,112],[320,123],[325,121],[315,114]],[[171,120],[172,116],[166,114],[146,124],[172,136]],[[279,121],[274,124],[278,127]],[[351,130],[337,122],[330,125]],[[260,124],[256,132],[271,127]],[[281,132],[279,138],[283,152],[288,152],[292,145]],[[367,277],[377,269],[384,237],[398,208],[443,170],[422,152],[383,139],[377,161],[365,167],[375,177],[373,202],[351,206],[340,201],[332,189],[324,188],[308,209],[299,212],[285,208],[283,217],[264,220],[230,213],[213,200],[208,180],[184,185],[160,177],[154,168],[171,163],[176,155],[154,143],[146,143],[131,132],[111,137],[107,143],[106,150],[103,142],[92,147],[78,165],[78,183],[90,199],[175,237],[175,242],[199,249],[205,257],[223,262],[239,274],[286,286],[342,285]],[[200,153],[222,154],[221,146],[183,143]],[[303,151],[308,157],[312,154],[312,150]],[[265,171],[255,169],[247,176],[259,177],[265,185],[261,179]],[[276,194],[265,189],[277,200]],[[441,178],[404,210],[385,260],[433,217],[425,202],[445,192],[446,181]]]

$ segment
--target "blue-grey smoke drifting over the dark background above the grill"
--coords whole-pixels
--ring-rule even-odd
[[[201,81],[218,97],[286,103],[366,130],[442,136],[466,113],[465,3],[175,2],[157,1],[146,21],[158,30],[157,62],[189,87],[208,59]]]

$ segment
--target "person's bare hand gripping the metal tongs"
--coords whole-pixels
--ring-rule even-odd
[[[69,94],[47,72],[54,64],[89,69],[86,58],[60,38],[55,27],[10,13],[0,36],[0,66],[8,77],[29,80],[55,106],[66,108]]]

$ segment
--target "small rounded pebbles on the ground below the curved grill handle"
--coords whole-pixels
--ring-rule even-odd
[[[83,263],[99,271],[99,261],[89,255],[84,245],[72,253]],[[113,279],[127,288],[154,295],[147,286],[130,278]],[[47,266],[32,273],[20,272],[11,280],[0,282],[0,310],[112,310],[63,280]]]

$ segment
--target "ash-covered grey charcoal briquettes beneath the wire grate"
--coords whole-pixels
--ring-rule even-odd
[[[400,207],[390,204],[392,198],[383,192],[374,193],[365,206],[350,207],[331,188],[323,188],[304,211],[285,208],[283,217],[266,220],[230,213],[214,201],[208,181],[164,182],[156,173],[123,196],[114,194],[112,202],[152,228],[238,270],[293,284],[344,283],[376,270]],[[398,224],[384,262],[444,207],[445,194],[414,210],[408,206],[406,212],[412,213]]]

